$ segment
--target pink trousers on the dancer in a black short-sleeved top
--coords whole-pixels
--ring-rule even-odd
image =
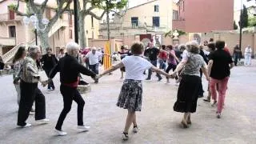
[[[227,90],[227,82],[230,77],[223,78],[221,80],[210,78],[210,93],[214,101],[217,101],[217,89],[218,84],[218,113],[222,113],[223,105],[225,102],[225,95]]]

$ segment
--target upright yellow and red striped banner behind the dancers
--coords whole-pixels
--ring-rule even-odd
[[[104,48],[104,58],[103,58],[104,70],[110,69],[111,65],[111,54],[110,54],[110,42],[106,42]]]

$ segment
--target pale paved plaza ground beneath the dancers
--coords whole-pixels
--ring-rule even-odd
[[[256,64],[256,62],[254,62]],[[46,75],[42,73],[44,78]],[[59,92],[59,78],[54,78],[56,90],[41,90],[46,96],[46,116],[50,123],[39,125],[30,116],[30,128],[16,128],[18,106],[12,76],[0,77],[0,143],[256,143],[256,66],[238,66],[231,71],[226,94],[225,110],[217,119],[216,108],[198,99],[198,109],[192,115],[192,126],[182,129],[179,125],[182,114],[173,110],[178,86],[175,82],[165,84],[153,77],[143,83],[142,112],[138,113],[138,134],[130,131],[128,142],[122,142],[121,134],[126,120],[126,110],[118,108],[118,94],[122,86],[121,74],[117,70],[106,75],[98,84],[90,82],[90,94],[83,94],[86,101],[84,122],[90,131],[77,130],[77,106],[66,117],[62,127],[68,135],[58,137],[54,126],[62,110],[62,95]],[[206,90],[204,81],[204,90]],[[207,92],[205,93],[206,96]]]

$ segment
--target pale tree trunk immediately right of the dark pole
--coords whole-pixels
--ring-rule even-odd
[[[81,48],[87,46],[86,33],[85,33],[85,14],[79,14],[79,44]]]

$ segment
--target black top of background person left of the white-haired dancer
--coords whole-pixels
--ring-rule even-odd
[[[58,59],[54,54],[50,54],[50,56],[48,54],[44,54],[42,55],[41,62],[43,70],[51,70],[58,63]]]

